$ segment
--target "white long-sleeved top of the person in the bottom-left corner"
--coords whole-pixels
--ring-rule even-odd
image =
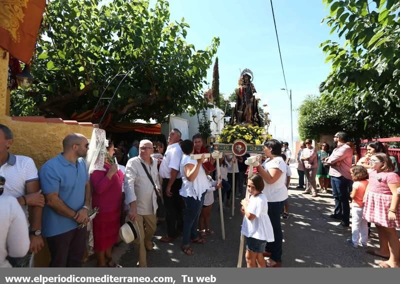
[[[11,267],[5,259],[25,256],[29,249],[29,233],[25,215],[13,196],[0,196],[0,267]]]

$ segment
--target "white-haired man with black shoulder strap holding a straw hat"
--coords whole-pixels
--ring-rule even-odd
[[[137,221],[141,241],[136,244],[139,251],[139,267],[147,267],[146,249],[151,250],[151,238],[156,228],[158,181],[157,160],[151,158],[153,144],[149,140],[139,143],[139,155],[126,163],[123,189],[125,203],[129,204],[127,217]]]

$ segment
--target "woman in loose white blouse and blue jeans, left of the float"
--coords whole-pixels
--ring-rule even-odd
[[[180,162],[182,187],[179,190],[179,194],[185,204],[182,250],[185,254],[192,255],[194,252],[190,247],[189,241],[205,243],[205,239],[198,236],[197,224],[204,202],[204,195],[209,184],[204,168],[201,166],[205,159],[204,155],[198,160],[190,159],[190,154],[193,153],[193,142],[191,140],[180,142],[180,148],[182,149],[183,157]]]

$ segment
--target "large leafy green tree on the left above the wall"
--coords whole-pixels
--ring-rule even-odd
[[[12,93],[18,105],[12,114],[20,115],[15,112],[30,102],[36,109],[25,112],[68,119],[93,109],[104,89],[104,97],[111,97],[125,74],[108,110],[113,121],[162,120],[189,106],[202,109],[200,89],[219,38],[195,49],[185,41],[184,19],[169,21],[166,0],[151,8],[148,0],[99,2],[49,1],[31,68],[38,82]],[[102,99],[96,111],[108,102]]]

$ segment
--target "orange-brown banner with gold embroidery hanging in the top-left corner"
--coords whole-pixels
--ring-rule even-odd
[[[19,61],[29,63],[45,0],[0,0],[0,46]]]

